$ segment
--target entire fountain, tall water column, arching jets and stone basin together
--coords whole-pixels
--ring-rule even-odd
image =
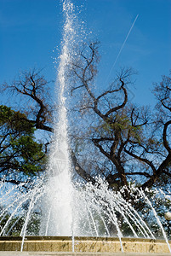
[[[0,250],[171,252],[161,220],[145,192],[134,186],[129,188],[134,205],[144,201],[144,207],[150,212],[150,218],[156,218],[161,230],[158,233],[165,240],[156,240],[142,214],[124,200],[124,189],[119,192],[108,189],[101,177],[95,177],[95,184],[71,183],[66,70],[77,38],[77,16],[70,0],[63,2],[63,11],[65,24],[56,82],[60,87],[59,110],[56,110],[59,121],[54,122],[46,182],[37,178],[34,189],[23,192],[25,183],[7,186],[5,177],[1,181]],[[156,199],[160,196],[165,200],[162,190],[155,193],[153,191]]]

